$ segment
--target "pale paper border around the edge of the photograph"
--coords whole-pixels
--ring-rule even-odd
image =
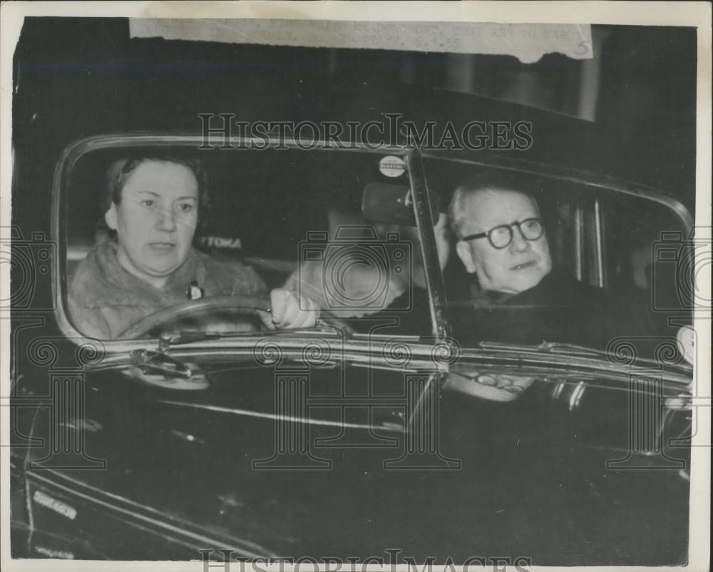
[[[496,21],[508,23],[615,24],[636,26],[694,26],[697,28],[697,155],[696,155],[696,226],[711,228],[711,5],[707,2],[414,2],[408,8],[398,1],[310,2],[310,1],[245,1],[240,3],[201,2],[6,2],[1,5],[0,35],[0,227],[11,225],[11,103],[12,60],[24,16],[133,17],[133,18],[250,18],[250,19],[317,19],[352,21]],[[447,24],[444,24],[447,25]],[[365,46],[366,47],[366,46]],[[0,267],[0,291],[9,290],[8,265]],[[704,268],[703,284],[711,284],[710,266]],[[697,316],[694,327],[701,348],[694,366],[698,387],[710,396],[711,321]],[[9,396],[9,320],[0,320],[0,404]],[[699,431],[692,439],[692,472],[690,489],[689,563],[685,569],[704,570],[709,566],[710,516],[710,409],[699,415]],[[195,571],[203,570],[200,561],[189,563],[154,563],[147,561],[53,561],[43,559],[9,559],[9,408],[0,407],[1,472],[1,557],[0,568],[12,571]],[[708,439],[708,441],[707,441]],[[231,569],[237,568],[237,564]],[[315,568],[315,567],[312,567]],[[317,567],[324,570],[325,566]],[[392,567],[368,566],[371,569]],[[460,569],[461,566],[453,568]],[[611,570],[612,567],[588,567]],[[220,564],[211,571],[222,569]],[[277,566],[272,569],[277,570]],[[287,569],[287,567],[284,567]],[[300,569],[307,571],[310,566]],[[399,565],[396,570],[409,570]],[[469,570],[476,568],[470,567]],[[483,568],[491,569],[491,568]],[[532,570],[549,569],[532,566]],[[579,570],[580,567],[558,567]],[[628,570],[641,569],[627,567]],[[681,570],[679,567],[657,567],[658,571]],[[409,571],[410,572],[410,571]]]

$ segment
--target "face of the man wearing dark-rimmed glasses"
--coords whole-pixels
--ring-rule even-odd
[[[479,190],[468,195],[464,204],[459,236],[540,216],[532,198],[513,190]],[[525,240],[518,227],[513,227],[513,241],[505,248],[493,247],[484,237],[459,241],[456,250],[466,270],[478,275],[483,290],[518,294],[538,285],[552,270],[547,236]]]

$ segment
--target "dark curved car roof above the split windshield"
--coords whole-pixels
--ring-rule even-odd
[[[393,83],[384,89],[383,83],[366,80],[309,81],[294,73],[284,76],[279,69],[260,68],[250,75],[245,70],[223,73],[219,67],[217,74],[205,62],[187,67],[170,59],[127,60],[106,67],[87,73],[91,68],[86,66],[19,66],[16,84],[26,97],[16,99],[14,107],[16,125],[24,127],[14,130],[16,148],[23,146],[18,139],[26,138],[25,145],[58,157],[73,141],[108,133],[200,135],[205,121],[200,114],[206,113],[214,122],[220,121],[220,113],[250,123],[331,121],[344,126],[345,137],[347,122],[388,125],[389,114],[399,114],[418,131],[433,123],[436,145],[448,126],[462,134],[473,121],[509,126],[525,122],[532,144],[523,150],[438,148],[424,153],[680,199],[679,193],[628,182],[630,175],[617,166],[617,145],[596,123],[518,103],[415,84]],[[48,90],[48,81],[58,88]],[[58,109],[63,113],[56,113]],[[377,131],[369,131],[370,143],[383,141]],[[403,136],[395,142],[407,143]]]

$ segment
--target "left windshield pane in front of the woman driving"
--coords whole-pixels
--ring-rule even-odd
[[[113,339],[169,327],[254,332],[263,328],[254,310],[284,289],[300,307],[318,305],[327,325],[432,332],[415,221],[369,220],[361,210],[369,185],[406,200],[403,160],[198,144],[113,144],[73,163],[61,216],[78,330]]]

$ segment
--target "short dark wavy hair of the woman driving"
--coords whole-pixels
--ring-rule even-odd
[[[208,199],[208,181],[203,168],[202,162],[195,158],[184,157],[182,155],[174,155],[163,152],[141,152],[133,155],[125,155],[124,157],[114,160],[106,170],[106,188],[101,201],[101,214],[97,221],[98,235],[108,235],[113,240],[116,240],[116,230],[108,227],[104,215],[111,208],[112,203],[118,205],[121,202],[121,191],[126,185],[126,181],[139,165],[148,161],[156,161],[159,163],[175,163],[183,165],[190,169],[190,172],[198,181],[198,230],[201,230],[201,220],[205,220],[205,213],[210,208]]]

